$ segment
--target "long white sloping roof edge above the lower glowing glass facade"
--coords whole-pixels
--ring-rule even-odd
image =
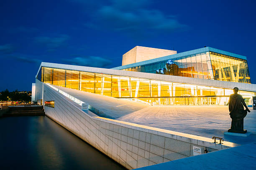
[[[238,87],[239,90],[256,92],[256,84],[249,84],[249,83],[242,83],[242,82],[207,80],[207,79],[192,78],[192,77],[181,77],[181,76],[175,76],[175,75],[161,75],[161,74],[154,74],[154,73],[147,73],[147,72],[114,70],[114,69],[108,69],[108,68],[56,64],[56,63],[49,63],[49,62],[41,62],[38,72],[41,67],[51,67],[51,68],[76,70],[76,71],[84,71],[84,72],[95,72],[95,73],[102,73],[102,74],[109,74],[109,75],[137,77],[137,78],[145,78],[145,79],[160,80],[160,81],[167,81],[167,82],[169,81],[169,82],[178,82],[178,83],[193,84],[193,85],[221,87],[226,89],[233,89],[234,87]],[[38,75],[38,72],[37,72],[37,75]]]

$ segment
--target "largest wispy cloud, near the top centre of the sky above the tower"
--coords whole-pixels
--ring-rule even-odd
[[[104,6],[98,14],[115,30],[174,30],[185,27],[175,17],[166,17],[159,10],[137,10],[124,12],[111,6]]]

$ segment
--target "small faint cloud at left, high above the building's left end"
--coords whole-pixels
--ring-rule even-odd
[[[68,35],[59,35],[56,37],[41,36],[41,37],[35,38],[36,42],[42,45],[45,45],[48,49],[51,49],[51,50],[67,45],[68,39],[69,39]]]

